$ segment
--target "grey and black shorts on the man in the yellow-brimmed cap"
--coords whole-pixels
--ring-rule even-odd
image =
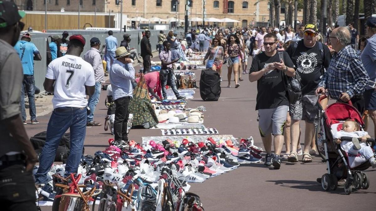
[[[294,104],[290,104],[290,116],[293,120],[304,120],[312,124],[317,124],[319,121],[318,96],[300,96]]]

